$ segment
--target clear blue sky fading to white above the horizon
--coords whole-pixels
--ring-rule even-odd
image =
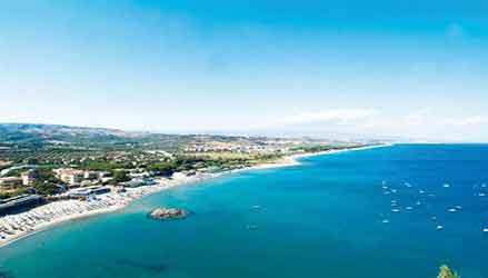
[[[0,122],[488,142],[488,1],[0,1]]]

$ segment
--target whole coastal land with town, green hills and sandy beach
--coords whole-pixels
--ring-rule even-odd
[[[0,132],[0,245],[178,185],[251,167],[292,165],[293,155],[375,145],[50,126],[33,130],[22,126]]]

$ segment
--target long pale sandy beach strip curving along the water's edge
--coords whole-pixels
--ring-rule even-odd
[[[348,149],[330,149],[327,151],[319,151],[319,152],[296,153],[296,155],[285,156],[282,159],[276,162],[262,163],[262,165],[246,167],[242,169],[230,170],[220,173],[200,173],[197,176],[176,179],[176,180],[160,179],[159,185],[157,186],[130,188],[127,189],[128,190],[127,193],[110,192],[100,196],[97,202],[80,201],[80,200],[62,200],[62,201],[49,202],[47,205],[30,209],[21,214],[0,217],[0,228],[4,229],[4,230],[0,229],[0,235],[4,237],[4,238],[0,238],[0,248],[9,246],[18,240],[28,238],[37,232],[48,230],[52,227],[56,227],[58,225],[68,221],[122,210],[129,203],[131,203],[137,199],[140,199],[142,197],[156,192],[161,192],[177,186],[195,183],[195,182],[218,178],[230,173],[237,173],[241,171],[299,166],[301,165],[299,160],[307,157],[335,155],[335,153],[347,152],[347,151],[366,150],[366,149],[390,147],[390,146],[392,145],[391,143],[375,145],[375,146],[366,146],[366,147],[357,147],[357,148],[348,148]],[[61,214],[67,214],[67,215],[61,215]],[[28,226],[28,228],[23,228],[22,225]],[[10,235],[6,232],[6,227],[11,228],[8,229],[10,232],[14,230],[17,234]]]

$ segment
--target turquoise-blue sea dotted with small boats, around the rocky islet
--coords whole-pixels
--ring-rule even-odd
[[[436,277],[447,262],[464,278],[488,277],[484,182],[484,145],[312,157],[302,166],[180,187],[39,232],[0,249],[0,271],[16,278],[405,278]],[[400,212],[391,211],[391,200]],[[159,206],[195,215],[149,220],[146,214]],[[462,209],[448,212],[452,206]]]

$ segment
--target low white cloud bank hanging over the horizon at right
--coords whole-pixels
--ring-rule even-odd
[[[488,115],[454,117],[445,110],[427,107],[401,111],[357,108],[301,112],[263,120],[251,129],[277,129],[309,136],[342,132],[432,141],[480,141],[486,140],[484,127],[488,127]]]

